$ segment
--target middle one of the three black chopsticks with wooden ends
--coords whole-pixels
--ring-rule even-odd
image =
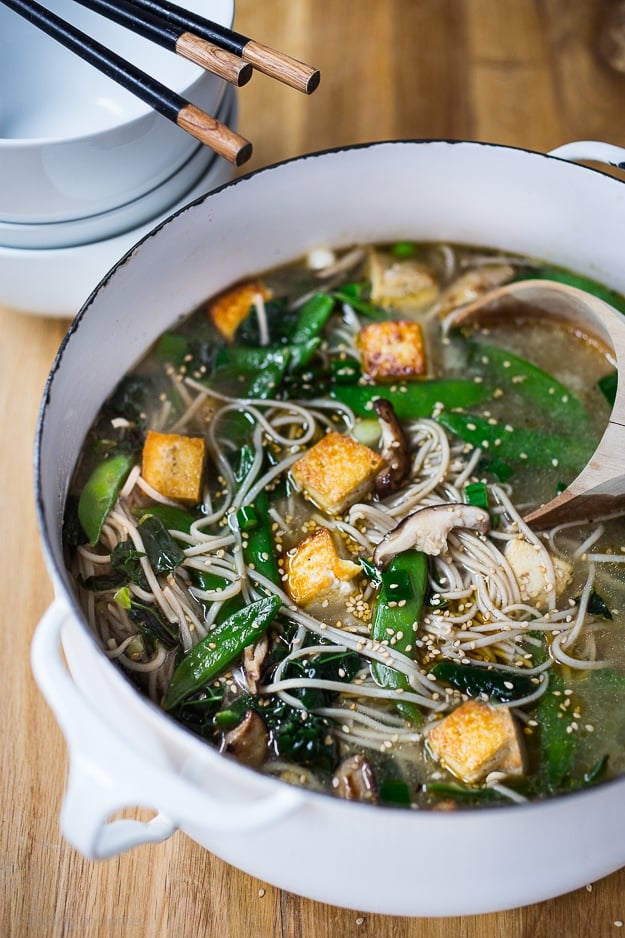
[[[181,33],[170,23],[150,13],[138,15],[136,7],[125,0],[78,0],[78,3],[201,65],[234,85],[240,87],[252,77],[250,62],[199,36]]]

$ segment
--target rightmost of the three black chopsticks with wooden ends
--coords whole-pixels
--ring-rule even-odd
[[[111,2],[115,3],[116,0],[111,0]],[[170,3],[169,0],[128,0],[128,5],[145,10],[153,16],[162,17],[179,30],[193,33],[234,55],[241,56],[260,72],[277,78],[278,81],[298,91],[311,94],[319,85],[320,75],[316,68],[256,42],[248,36],[227,29],[220,23],[214,23],[212,20],[185,10]]]

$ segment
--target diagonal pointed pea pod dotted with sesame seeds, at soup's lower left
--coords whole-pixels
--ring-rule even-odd
[[[269,596],[233,613],[195,645],[174,671],[163,707],[171,710],[190,694],[210,683],[232,664],[247,645],[267,631],[281,600]]]

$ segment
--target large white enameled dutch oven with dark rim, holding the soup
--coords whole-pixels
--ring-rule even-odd
[[[286,890],[420,916],[537,902],[625,865],[625,778],[535,804],[407,812],[313,794],[219,755],[105,657],[77,606],[61,546],[68,480],[104,398],[163,329],[243,275],[320,244],[443,239],[536,255],[625,292],[625,184],[571,160],[623,166],[625,151],[578,143],[545,155],[425,141],[301,157],[184,208],[92,294],[62,344],[41,409],[36,497],[57,598],[32,647],[36,679],[69,747],[62,830],[86,857],[180,828]],[[134,805],[156,816],[109,821]]]

